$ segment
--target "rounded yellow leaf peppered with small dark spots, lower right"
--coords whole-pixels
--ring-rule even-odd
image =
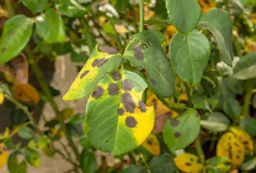
[[[233,133],[224,133],[217,144],[217,156],[230,158],[234,167],[238,167],[244,161],[244,144]]]

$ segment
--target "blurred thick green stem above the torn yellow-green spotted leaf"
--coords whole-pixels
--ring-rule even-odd
[[[88,21],[85,18],[81,18],[80,23],[84,29],[84,35],[87,41],[87,45],[89,46],[90,53],[94,50],[95,42],[91,32],[89,31]]]

